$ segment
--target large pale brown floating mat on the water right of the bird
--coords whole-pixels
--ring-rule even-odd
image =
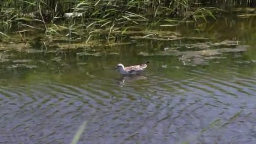
[[[186,48],[200,48],[203,49],[201,51],[178,51],[173,50],[173,48],[163,48],[160,52],[155,53],[147,53],[140,52],[138,55],[141,56],[181,56],[179,57],[179,61],[182,61],[184,65],[205,65],[208,64],[209,60],[212,59],[225,59],[227,57],[221,56],[223,53],[240,53],[247,51],[248,45],[237,45],[237,41],[225,40],[221,43],[215,43],[215,45],[226,45],[233,46],[236,45],[235,48],[217,48],[217,49],[208,49],[211,48],[211,43],[195,43],[195,44],[185,44]],[[191,46],[191,47],[189,47]],[[182,45],[175,49],[182,48]]]

